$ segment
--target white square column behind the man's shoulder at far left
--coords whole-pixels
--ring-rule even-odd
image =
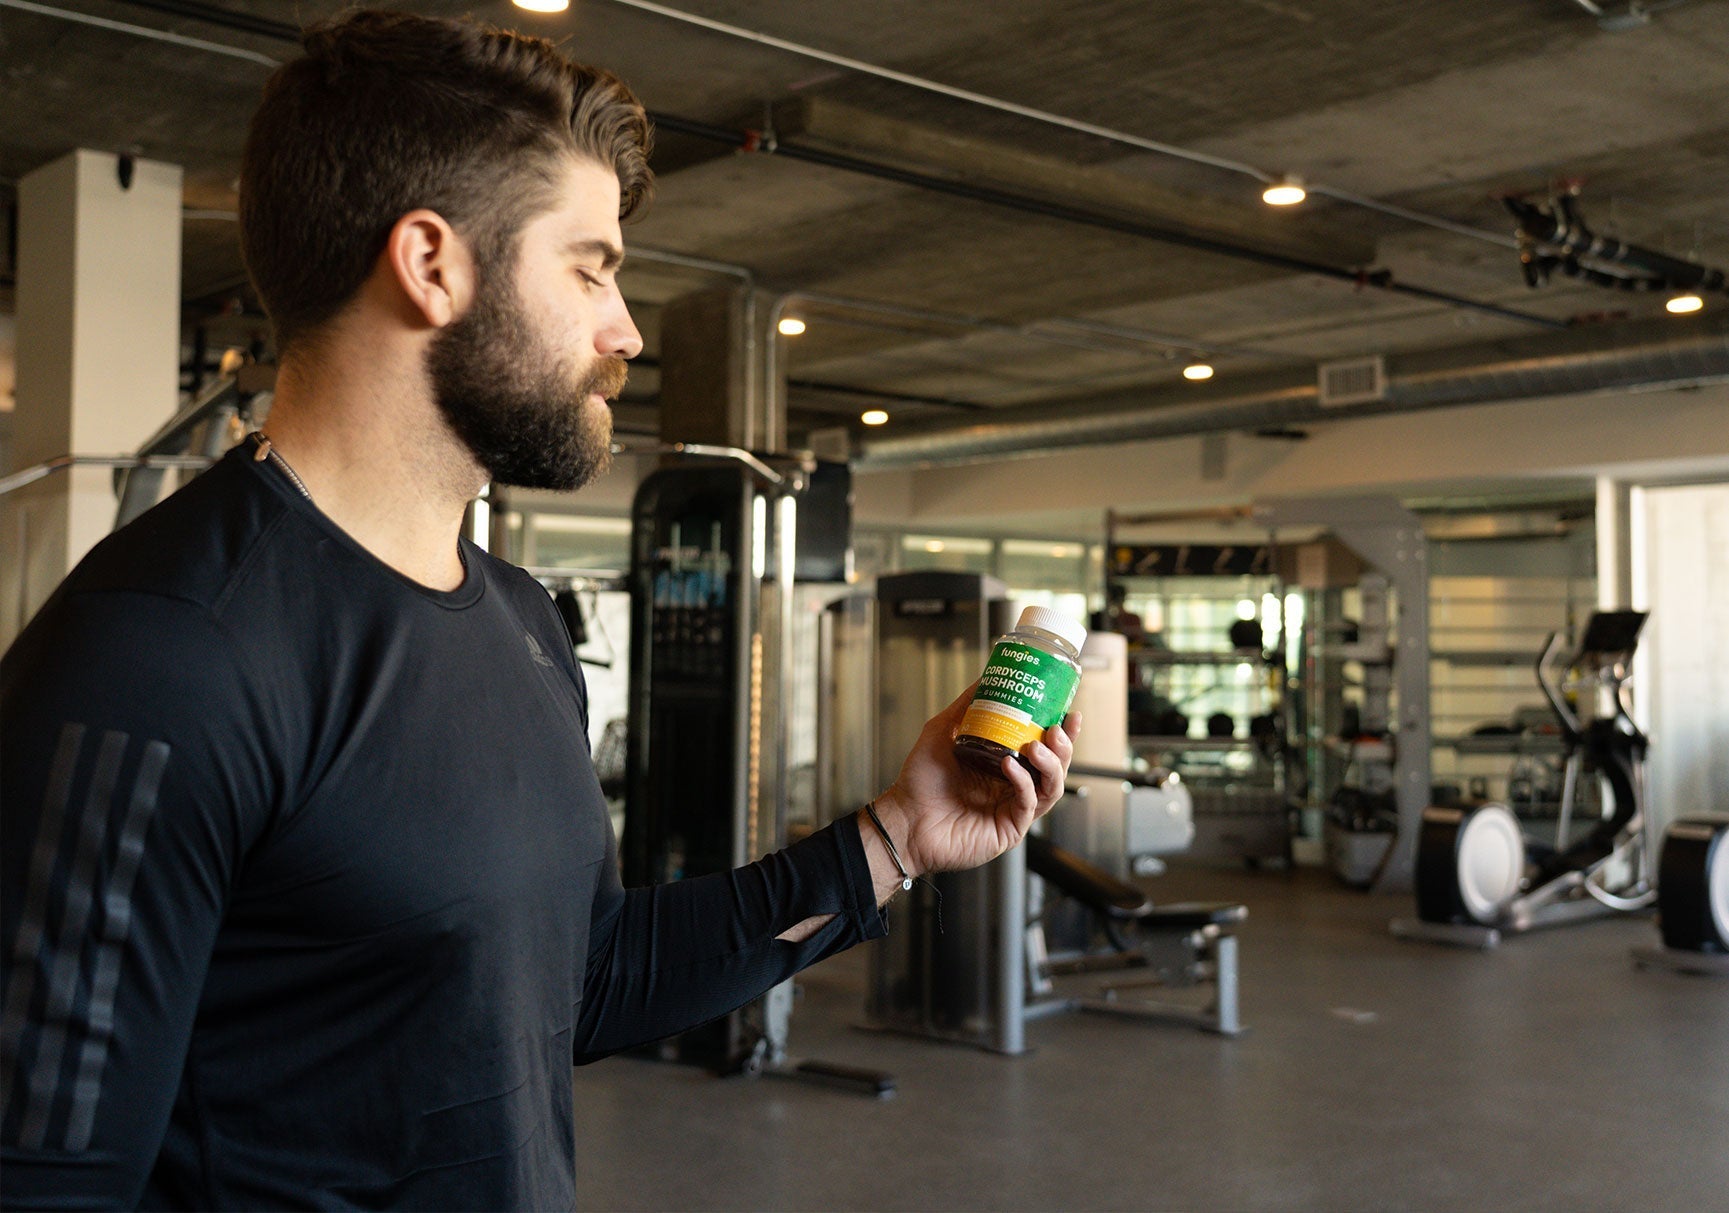
[[[180,178],[76,150],[19,181],[12,468],[135,451],[178,404]],[[0,645],[114,525],[112,473],[0,499]]]

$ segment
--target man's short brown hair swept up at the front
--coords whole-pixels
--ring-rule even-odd
[[[265,85],[240,164],[242,252],[278,352],[354,297],[408,211],[441,214],[484,273],[571,157],[617,173],[622,219],[648,200],[641,102],[543,38],[361,10],[303,41]]]

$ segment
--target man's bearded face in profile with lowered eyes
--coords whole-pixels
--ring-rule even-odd
[[[475,264],[475,295],[427,352],[432,397],[493,480],[577,489],[605,470],[607,401],[641,337],[619,295],[619,183],[571,161],[514,264]]]

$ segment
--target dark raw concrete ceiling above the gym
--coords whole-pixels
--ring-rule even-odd
[[[244,22],[233,17],[292,24],[335,7],[40,2],[273,59],[292,43],[235,28]],[[550,17],[507,3],[399,7],[474,12],[553,36],[619,71],[669,119],[724,130],[773,123],[788,147],[1030,204],[954,197],[662,126],[659,195],[628,238],[745,268],[773,290],[828,297],[802,306],[809,330],[787,344],[795,439],[858,429],[859,411],[877,403],[894,415],[892,429],[1005,406],[1067,408],[1091,394],[1120,399],[1138,387],[1169,399],[1183,365],[1202,352],[1226,384],[1337,356],[1660,316],[1660,294],[1566,278],[1537,290],[1523,283],[1499,195],[1546,197],[1560,181],[1579,183],[1594,228],[1729,264],[1729,0],[1646,3],[1644,21],[1599,21],[1584,0],[673,0],[688,14],[1082,124],[1298,173],[1333,195],[1283,211],[1235,171],[617,0],[577,0]],[[1594,7],[1627,14],[1625,0]],[[218,335],[242,339],[261,325],[225,213],[235,207],[246,121],[266,73],[211,50],[0,7],[0,180],[73,147],[185,166],[188,318],[240,301],[242,314],[220,321]],[[0,264],[0,278],[7,273]],[[1376,289],[1376,273],[1445,299]],[[622,282],[652,361],[660,304],[721,278],[641,257]],[[1708,302],[1726,306],[1722,294]],[[655,382],[652,366],[635,377],[640,404],[652,406]],[[650,408],[629,416],[654,423]]]

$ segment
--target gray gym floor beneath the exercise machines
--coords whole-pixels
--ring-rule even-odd
[[[1406,943],[1409,899],[1174,869],[1233,899],[1236,1040],[1069,1014],[999,1057],[852,1028],[859,952],[801,978],[794,1045],[887,1101],[614,1057],[576,1073],[586,1210],[1724,1210],[1729,978],[1637,969],[1648,918]]]

